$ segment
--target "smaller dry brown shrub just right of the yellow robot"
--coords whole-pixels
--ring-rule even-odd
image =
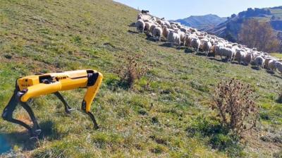
[[[136,81],[149,71],[149,66],[147,66],[145,62],[137,61],[141,57],[142,56],[138,54],[119,56],[119,58],[125,59],[125,64],[116,70],[123,86],[129,87],[130,89],[133,88]]]

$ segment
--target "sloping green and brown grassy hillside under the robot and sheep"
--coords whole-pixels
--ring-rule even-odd
[[[82,68],[104,74],[92,104],[99,130],[79,110],[66,115],[53,95],[39,97],[32,109],[44,138],[31,142],[25,129],[1,119],[0,151],[11,147],[3,157],[271,157],[281,150],[281,142],[270,139],[281,137],[281,75],[151,42],[129,26],[136,16],[133,8],[109,0],[1,1],[0,111],[19,76]],[[141,54],[140,61],[154,68],[134,90],[125,90],[114,72],[125,63],[118,56],[130,54]],[[212,133],[188,129],[203,125],[214,131],[214,87],[230,78],[255,88],[261,112],[257,130],[236,148],[222,150],[211,144]],[[80,109],[84,93],[63,95]],[[21,109],[15,116],[30,122]]]

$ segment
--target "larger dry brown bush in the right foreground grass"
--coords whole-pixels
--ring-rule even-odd
[[[232,79],[219,83],[214,92],[212,109],[219,112],[221,125],[240,135],[255,127],[258,110],[252,100],[250,85]]]

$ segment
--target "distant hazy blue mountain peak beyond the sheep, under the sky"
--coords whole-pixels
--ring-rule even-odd
[[[202,28],[214,28],[216,25],[219,25],[219,23],[223,23],[226,20],[227,18],[221,18],[213,14],[208,14],[205,16],[190,16],[188,18],[183,18],[173,21],[192,28],[202,29]]]

